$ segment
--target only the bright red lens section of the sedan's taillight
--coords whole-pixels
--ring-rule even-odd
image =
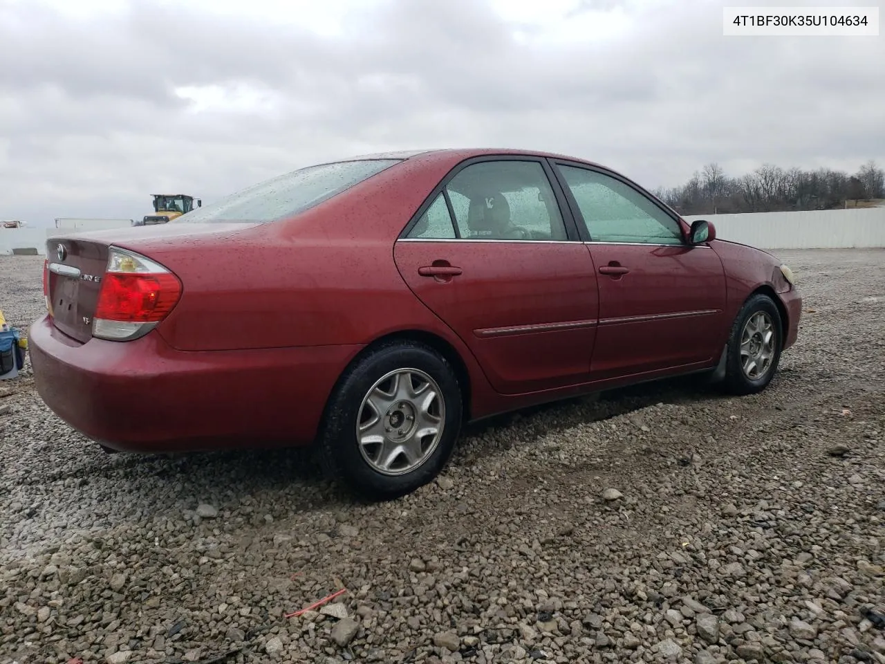
[[[181,297],[173,274],[105,273],[96,318],[130,323],[163,320]]]

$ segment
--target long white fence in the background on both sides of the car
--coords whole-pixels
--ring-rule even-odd
[[[689,216],[712,221],[723,240],[762,249],[852,249],[885,247],[885,207],[814,212],[748,212]],[[42,254],[59,228],[0,228],[0,255],[13,249]]]

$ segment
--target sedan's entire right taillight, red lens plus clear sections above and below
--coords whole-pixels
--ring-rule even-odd
[[[131,341],[146,335],[181,298],[181,282],[164,266],[135,253],[111,247],[102,275],[92,336]]]

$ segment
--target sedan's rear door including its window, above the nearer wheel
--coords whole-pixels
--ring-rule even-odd
[[[588,380],[596,273],[551,177],[543,159],[468,161],[394,248],[409,288],[503,394]]]

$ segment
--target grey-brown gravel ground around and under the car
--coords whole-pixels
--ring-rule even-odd
[[[0,382],[0,662],[885,662],[885,251],[781,254],[763,394],[501,418],[382,505],[304,452],[108,455]],[[0,259],[20,327],[41,266]]]

